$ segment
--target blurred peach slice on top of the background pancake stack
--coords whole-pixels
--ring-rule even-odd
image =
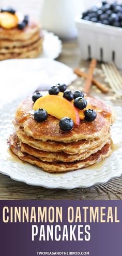
[[[11,14],[9,12],[1,12],[0,25],[6,29],[16,27],[18,25],[18,17],[16,16],[16,14]]]

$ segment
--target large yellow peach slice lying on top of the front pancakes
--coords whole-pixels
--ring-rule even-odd
[[[34,110],[45,109],[48,114],[55,116],[57,119],[63,117],[70,117],[75,125],[80,124],[78,110],[75,109],[73,104],[63,97],[58,95],[45,95],[34,103]]]

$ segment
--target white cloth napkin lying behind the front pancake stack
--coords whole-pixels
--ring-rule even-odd
[[[69,85],[76,79],[72,69],[48,58],[12,59],[0,63],[0,107],[25,98],[36,89],[46,90],[57,83]]]

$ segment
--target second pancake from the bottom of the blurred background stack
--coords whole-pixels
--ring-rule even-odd
[[[22,47],[14,47],[14,48],[10,48],[10,49],[6,49],[6,48],[0,48],[0,55],[1,54],[22,54],[22,53],[26,53],[28,51],[32,51],[36,48],[38,48],[41,43],[42,43],[43,39],[42,38],[38,38],[38,40],[36,42],[30,43],[27,46],[22,46]]]

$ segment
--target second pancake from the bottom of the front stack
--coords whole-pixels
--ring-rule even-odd
[[[108,141],[102,142],[99,146],[95,147],[94,149],[86,150],[84,153],[81,154],[74,154],[69,155],[66,153],[52,153],[52,152],[44,152],[41,150],[38,150],[36,148],[30,147],[27,144],[24,144],[19,141],[21,151],[24,153],[27,153],[31,156],[35,156],[39,158],[42,161],[47,162],[53,162],[53,161],[62,161],[62,162],[73,162],[78,160],[84,160],[85,158],[88,158],[91,154],[95,154],[98,152],[98,150],[101,150],[102,147],[110,141],[110,138]]]

